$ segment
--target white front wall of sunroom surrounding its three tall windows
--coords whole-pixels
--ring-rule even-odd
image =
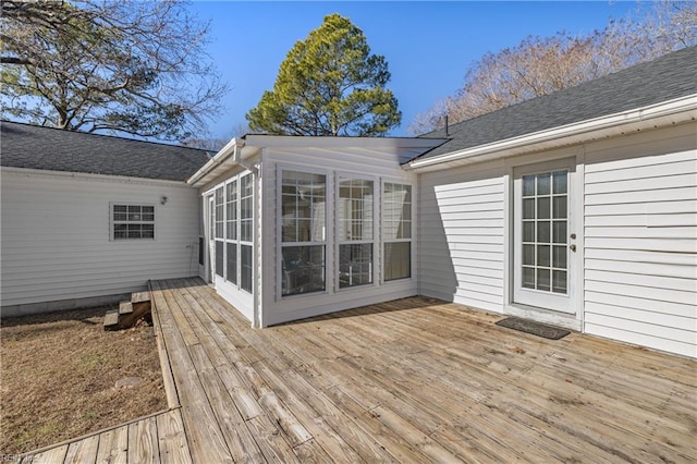
[[[390,301],[417,294],[416,285],[416,236],[412,240],[412,278],[375,285],[364,285],[353,289],[335,289],[334,258],[335,241],[333,239],[333,180],[340,174],[356,174],[374,176],[377,185],[380,181],[404,182],[413,185],[413,199],[417,197],[416,176],[400,168],[404,154],[399,149],[371,150],[369,148],[337,147],[337,148],[265,148],[262,155],[262,224],[261,224],[261,280],[262,285],[262,325],[269,326],[283,321],[299,319],[357,307],[378,302]],[[328,229],[327,229],[327,291],[323,293],[294,295],[280,297],[278,290],[279,249],[277,243],[277,167],[303,171],[303,169],[320,170],[328,175]],[[331,181],[330,181],[331,180]],[[379,199],[376,207],[380,208]],[[415,208],[415,205],[414,205]],[[379,231],[378,231],[379,232]],[[414,230],[414,235],[416,231]],[[377,237],[376,237],[377,239]],[[379,244],[378,241],[376,243]],[[379,247],[378,247],[379,248]],[[374,257],[375,266],[382,268],[380,253]],[[380,276],[380,271],[378,271]],[[380,279],[378,279],[380,280]]]

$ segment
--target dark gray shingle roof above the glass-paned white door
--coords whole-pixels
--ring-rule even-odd
[[[697,94],[697,47],[450,126],[431,158]],[[421,137],[444,137],[444,130]]]

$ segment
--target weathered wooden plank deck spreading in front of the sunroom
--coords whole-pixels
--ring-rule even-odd
[[[255,330],[198,279],[151,288],[174,408],[27,462],[697,461],[690,359],[417,297]]]

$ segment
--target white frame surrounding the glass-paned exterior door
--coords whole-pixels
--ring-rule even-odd
[[[516,303],[513,297],[515,284],[515,199],[514,199],[514,170],[535,169],[545,170],[545,166],[554,167],[554,163],[568,162],[575,167],[574,179],[568,191],[568,215],[574,217],[574,232],[576,233],[576,256],[574,264],[570,266],[570,308],[573,313],[561,313],[536,306]],[[558,164],[557,164],[558,166]],[[584,173],[585,150],[584,146],[561,148],[548,152],[518,156],[503,160],[503,210],[504,210],[504,256],[503,256],[503,313],[513,316],[525,317],[540,322],[566,327],[583,331],[584,328]],[[553,168],[550,168],[552,170]],[[572,233],[572,231],[567,231]]]

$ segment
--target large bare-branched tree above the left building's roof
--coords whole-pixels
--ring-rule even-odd
[[[227,87],[178,0],[0,0],[3,115],[87,132],[200,134]]]

